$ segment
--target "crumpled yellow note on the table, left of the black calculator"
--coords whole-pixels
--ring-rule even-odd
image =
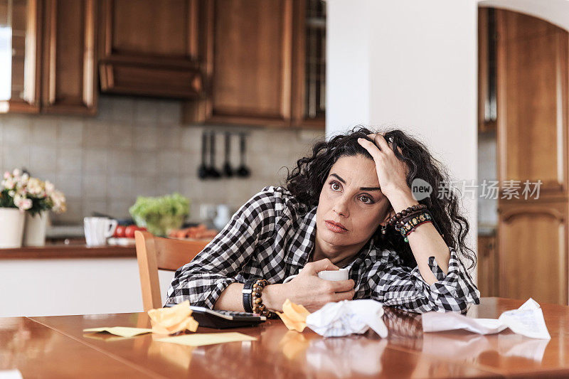
[[[152,324],[152,333],[174,334],[198,329],[198,321],[191,316],[188,300],[170,308],[150,309],[148,316]]]

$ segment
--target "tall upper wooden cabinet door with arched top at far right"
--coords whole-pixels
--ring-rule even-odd
[[[496,11],[500,181],[568,191],[568,32],[546,21]]]

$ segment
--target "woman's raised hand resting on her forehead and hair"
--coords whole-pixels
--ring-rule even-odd
[[[411,190],[406,181],[409,172],[407,164],[395,156],[393,149],[382,134],[368,134],[368,137],[376,143],[358,138],[358,144],[366,149],[376,162],[379,186],[383,194],[390,198],[390,195],[401,193],[401,191],[410,193]]]

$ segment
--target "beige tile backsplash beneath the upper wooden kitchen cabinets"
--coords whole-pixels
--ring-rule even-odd
[[[216,135],[216,167],[224,156],[223,133],[248,134],[249,178],[200,180],[201,134]],[[126,217],[137,196],[178,191],[191,199],[190,219],[201,204],[226,203],[233,210],[260,188],[283,183],[286,170],[309,152],[324,132],[259,127],[193,126],[181,123],[181,102],[101,96],[96,117],[0,116],[0,168],[25,167],[55,183],[68,211],[53,223],[79,223],[92,212]],[[232,134],[230,162],[239,164],[239,140]]]

